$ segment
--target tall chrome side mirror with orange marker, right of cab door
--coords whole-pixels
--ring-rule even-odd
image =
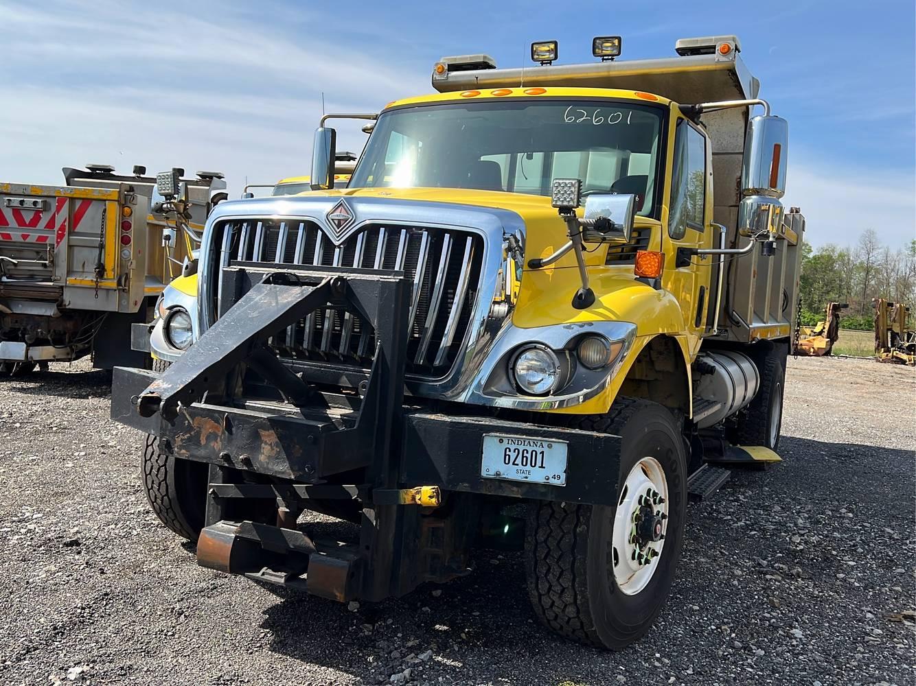
[[[782,198],[788,157],[789,123],[782,117],[751,117],[741,170],[742,195]]]

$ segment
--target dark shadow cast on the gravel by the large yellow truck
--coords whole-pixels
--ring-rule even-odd
[[[782,665],[767,665],[769,649],[786,640],[782,627],[793,626],[802,586],[830,584],[833,589],[838,570],[838,562],[822,552],[823,543],[805,546],[806,529],[796,520],[810,518],[819,536],[832,531],[849,535],[852,520],[844,514],[847,508],[871,510],[886,498],[911,498],[916,480],[911,451],[784,436],[780,454],[781,465],[736,469],[714,499],[688,509],[687,540],[671,598],[649,635],[622,653],[583,647],[540,627],[529,608],[524,561],[518,552],[477,552],[474,572],[462,579],[424,584],[403,598],[361,603],[355,611],[322,598],[275,590],[278,602],[267,607],[261,627],[270,632],[272,651],[304,664],[343,670],[364,683],[387,683],[407,668],[413,670],[410,681],[416,682],[442,677],[444,683],[595,683],[613,680],[614,670],[642,652],[670,652],[672,645],[684,641],[685,632],[695,634],[691,617],[696,604],[716,617],[706,616],[704,621],[747,625],[747,631],[757,633],[768,647],[768,657],[758,659],[758,667],[779,674]],[[824,515],[825,511],[836,516]],[[889,527],[904,537],[911,535],[908,514],[898,519]],[[338,526],[310,522],[307,528],[321,535]],[[748,536],[749,528],[759,529],[759,534]],[[801,534],[801,543],[796,534]],[[860,564],[870,564],[870,576],[863,579],[867,585],[899,583],[889,579],[892,569],[905,562],[880,557],[880,549],[891,545],[882,539],[890,535],[868,531],[860,541]],[[741,578],[747,581],[740,588],[734,587],[729,568],[705,557],[703,547],[711,541],[730,552],[731,567],[744,570]],[[802,578],[786,574],[788,578],[773,581],[768,568],[777,563],[799,567]],[[437,591],[441,594],[433,595]],[[841,588],[834,603],[857,608],[863,602],[859,593]],[[780,597],[782,609],[769,606],[767,595]],[[758,626],[758,617],[766,612],[780,617],[779,627]],[[712,635],[692,639],[692,650],[715,656],[723,649]],[[428,650],[431,658],[414,661]],[[823,670],[823,665],[817,669]],[[662,681],[667,681],[667,673],[662,673]]]

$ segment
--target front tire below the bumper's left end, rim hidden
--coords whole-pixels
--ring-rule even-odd
[[[158,439],[147,435],[141,466],[143,488],[159,520],[188,541],[197,541],[206,509],[207,466],[159,451]]]

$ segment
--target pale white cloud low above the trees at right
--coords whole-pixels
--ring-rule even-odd
[[[878,231],[880,240],[902,247],[916,239],[916,177],[910,169],[843,167],[804,158],[790,163],[786,207],[805,215],[805,240],[812,245],[855,245],[862,231]]]

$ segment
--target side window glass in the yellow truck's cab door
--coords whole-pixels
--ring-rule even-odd
[[[671,238],[683,238],[687,227],[703,230],[705,200],[706,139],[689,123],[681,120],[674,134],[668,229]]]

